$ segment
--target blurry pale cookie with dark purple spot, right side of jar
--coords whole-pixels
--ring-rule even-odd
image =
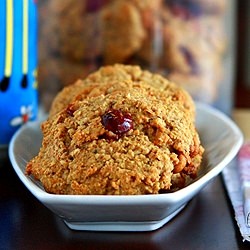
[[[199,22],[172,17],[163,28],[166,76],[207,103],[217,99],[223,76],[226,42],[220,24],[215,17],[200,17]]]

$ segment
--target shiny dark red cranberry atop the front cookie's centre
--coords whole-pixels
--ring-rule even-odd
[[[101,122],[105,129],[118,135],[118,137],[133,129],[131,115],[117,109],[110,109],[107,113],[103,114]]]

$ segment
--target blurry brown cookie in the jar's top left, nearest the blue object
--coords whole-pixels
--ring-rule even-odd
[[[102,27],[97,10],[102,5],[98,6],[96,3],[97,10],[92,10],[89,6],[91,2],[93,1],[48,1],[44,10],[46,13],[41,13],[40,17],[40,46],[45,46],[49,54],[73,62],[83,63],[99,57]]]

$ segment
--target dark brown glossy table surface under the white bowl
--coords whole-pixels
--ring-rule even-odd
[[[153,232],[72,231],[0,161],[0,249],[250,249],[242,242],[221,176]]]

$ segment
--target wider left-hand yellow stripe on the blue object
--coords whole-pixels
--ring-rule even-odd
[[[13,54],[13,0],[6,1],[5,76],[11,75]]]

